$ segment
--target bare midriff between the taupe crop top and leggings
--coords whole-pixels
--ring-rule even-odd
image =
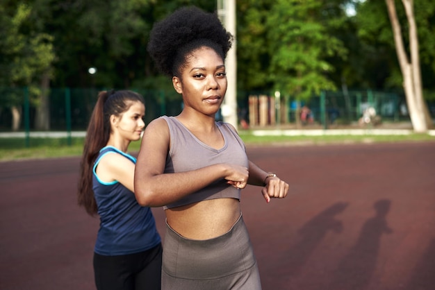
[[[228,232],[240,216],[240,202],[218,198],[165,210],[172,230],[187,239],[213,239]]]

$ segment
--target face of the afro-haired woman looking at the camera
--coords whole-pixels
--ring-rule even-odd
[[[192,108],[214,116],[227,92],[224,61],[209,47],[193,51],[181,70],[181,78],[174,76],[175,90],[183,95],[184,108]]]

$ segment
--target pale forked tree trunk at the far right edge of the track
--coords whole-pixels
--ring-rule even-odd
[[[395,10],[395,1],[385,0],[385,2],[388,8],[388,16],[390,17],[391,27],[393,28],[397,58],[399,60],[400,69],[403,75],[403,87],[407,97],[409,117],[411,117],[411,123],[414,131],[417,133],[424,133],[429,128],[427,119],[430,118],[425,115],[428,110],[425,110],[425,101],[422,96],[417,26],[413,13],[413,0],[402,0],[404,8],[407,12],[407,19],[409,23],[409,46],[411,51],[411,61],[409,60],[404,49],[400,23],[397,19],[397,13]]]

